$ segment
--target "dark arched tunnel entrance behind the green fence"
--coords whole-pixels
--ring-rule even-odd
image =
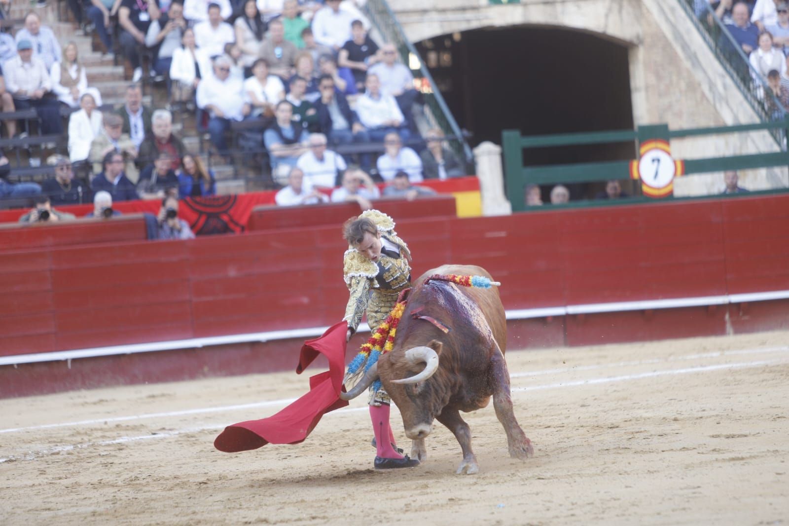
[[[565,28],[483,28],[416,44],[472,146],[523,135],[632,130],[628,50]],[[635,159],[633,143],[525,151],[528,165]],[[544,189],[545,190],[545,189]],[[592,197],[596,185],[570,189]]]

